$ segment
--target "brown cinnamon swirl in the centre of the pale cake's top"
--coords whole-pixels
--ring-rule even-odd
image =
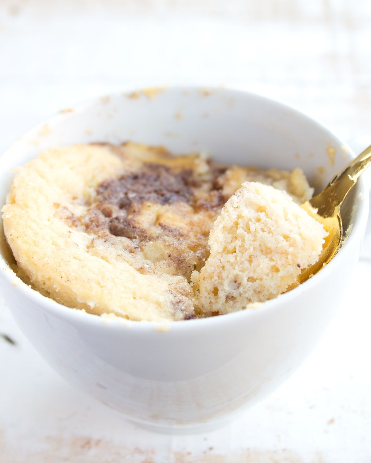
[[[80,223],[88,233],[127,238],[132,243],[124,240],[123,247],[189,280],[208,257],[210,228],[228,199],[221,190],[226,167],[206,161],[202,176],[199,158],[193,164],[189,159],[182,164],[166,156],[166,165],[144,162],[134,172],[103,181]]]

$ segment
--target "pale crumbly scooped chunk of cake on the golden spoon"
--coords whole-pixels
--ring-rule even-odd
[[[208,260],[194,272],[197,307],[210,316],[278,296],[317,261],[326,236],[285,192],[243,183],[211,229]]]

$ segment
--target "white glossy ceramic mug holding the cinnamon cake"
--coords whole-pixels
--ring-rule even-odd
[[[354,157],[314,119],[256,94],[147,89],[69,108],[19,138],[0,158],[1,205],[14,167],[40,150],[127,140],[176,154],[207,151],[228,164],[299,166],[317,189]],[[352,227],[338,255],[258,309],[166,325],[84,313],[19,280],[4,235],[0,290],[25,336],[71,384],[158,430],[217,426],[274,391],[314,348],[346,291],[367,216],[368,190],[360,179],[343,207],[345,226]]]

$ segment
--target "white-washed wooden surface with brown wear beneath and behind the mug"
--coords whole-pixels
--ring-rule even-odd
[[[61,108],[111,91],[226,84],[371,134],[371,2],[29,0],[0,3],[0,150]],[[371,462],[371,264],[326,336],[275,394],[196,436],[143,431],[63,382],[0,300],[1,463]]]

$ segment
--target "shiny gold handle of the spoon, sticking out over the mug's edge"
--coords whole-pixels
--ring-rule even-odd
[[[318,208],[322,217],[331,217],[338,210],[346,198],[346,195],[354,187],[359,175],[371,164],[371,146],[366,148],[346,167],[336,174],[327,187],[318,196],[314,196],[309,202]]]

